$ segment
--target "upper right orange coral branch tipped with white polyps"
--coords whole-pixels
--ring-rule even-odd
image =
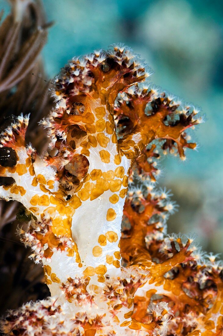
[[[135,85],[119,96],[115,107],[117,121],[127,118],[125,132],[128,133],[119,139],[120,148],[125,150],[131,146],[138,155],[152,140],[165,139],[163,147],[172,149],[176,145],[184,159],[184,148],[196,147],[195,143],[188,143],[185,136],[187,128],[202,122],[196,114],[195,108],[175,102],[165,92]]]

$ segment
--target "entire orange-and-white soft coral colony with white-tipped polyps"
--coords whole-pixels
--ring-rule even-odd
[[[2,320],[7,335],[222,335],[222,264],[167,235],[176,205],[156,188],[159,159],[195,149],[198,110],[146,81],[130,49],[74,58],[41,121],[49,149],[25,145],[29,116],[1,135],[0,187],[31,221],[19,229],[52,297]],[[144,83],[141,83],[144,82]]]

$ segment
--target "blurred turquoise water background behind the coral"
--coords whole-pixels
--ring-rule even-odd
[[[159,184],[170,188],[179,204],[168,232],[196,232],[204,250],[223,252],[223,2],[42,2],[47,22],[54,22],[42,51],[44,79],[57,75],[73,56],[122,42],[155,71],[152,83],[201,107],[206,123],[195,131],[195,139],[193,135],[198,151],[188,150],[184,162],[164,159]],[[0,0],[0,10],[6,17],[10,3]]]

